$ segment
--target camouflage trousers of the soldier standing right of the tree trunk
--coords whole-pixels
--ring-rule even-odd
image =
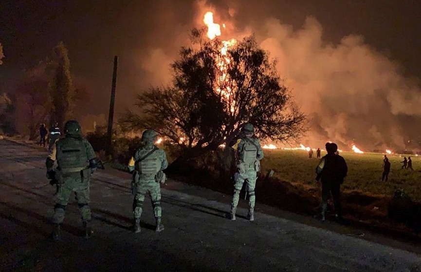
[[[233,194],[233,200],[231,202],[232,213],[234,213],[235,210],[237,209],[238,200],[240,197],[240,191],[241,191],[241,188],[243,187],[244,182],[246,182],[247,184],[247,192],[249,194],[249,209],[253,210],[255,208],[256,179],[257,179],[257,172],[253,168],[247,169],[244,174],[240,174],[240,173],[235,174],[234,194]]]

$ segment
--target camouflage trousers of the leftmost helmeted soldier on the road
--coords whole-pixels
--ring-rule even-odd
[[[64,220],[65,209],[69,202],[70,195],[74,192],[77,205],[79,206],[82,221],[91,220],[91,209],[89,208],[89,182],[82,182],[80,174],[72,174],[70,177],[63,177],[62,184],[57,185],[55,192],[55,207],[53,223],[61,224]]]

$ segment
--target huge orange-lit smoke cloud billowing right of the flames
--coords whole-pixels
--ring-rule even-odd
[[[294,100],[308,115],[310,129],[301,139],[306,146],[323,147],[336,141],[348,150],[352,142],[366,150],[404,149],[408,140],[419,141],[421,118],[419,82],[404,77],[399,64],[366,44],[364,37],[348,35],[337,43],[324,40],[323,26],[308,16],[298,28],[262,14],[249,22],[231,6],[196,2],[192,26],[202,27],[206,11],[225,23],[221,39],[255,35],[260,46],[277,59],[279,75],[291,88]],[[241,22],[240,22],[241,21]],[[189,44],[189,28],[176,35]],[[169,44],[174,44],[168,41]],[[150,84],[168,83],[168,67],[177,52],[150,48],[141,67]]]

